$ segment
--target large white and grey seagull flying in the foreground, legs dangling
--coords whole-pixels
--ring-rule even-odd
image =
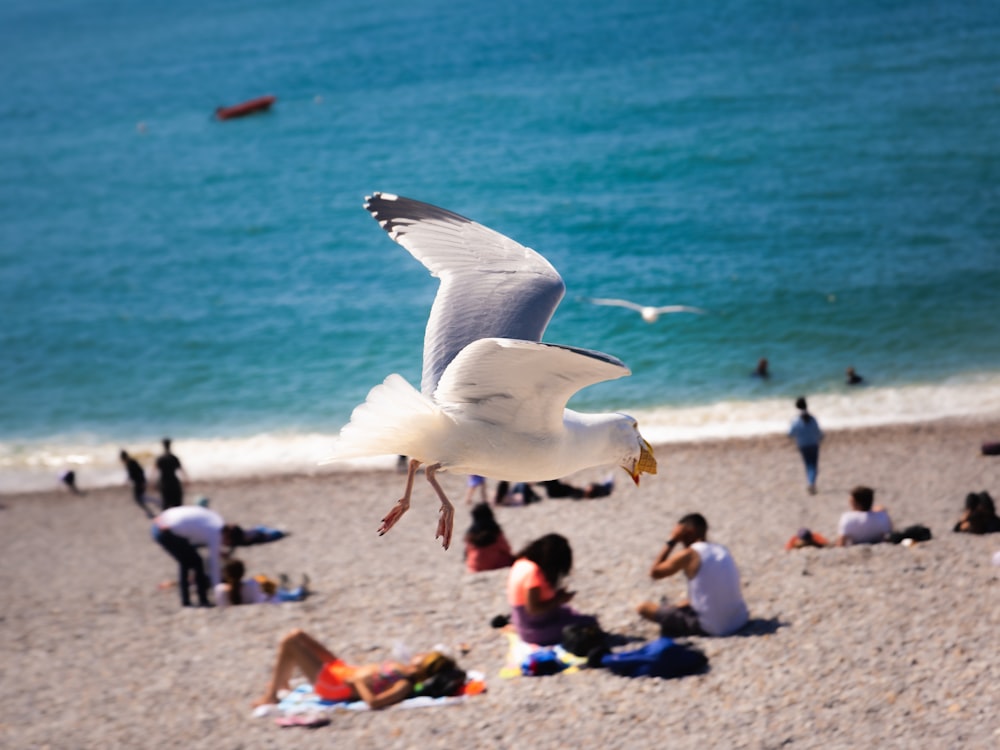
[[[365,208],[441,280],[424,332],[420,391],[390,375],[340,432],[330,460],[409,456],[403,497],[385,534],[410,507],[417,468],[441,500],[435,538],[451,543],[454,508],[435,474],[545,481],[618,464],[639,483],[656,459],[625,414],[566,408],[581,388],[629,375],[614,357],[541,343],[565,292],[534,250],[450,211],[388,193]]]

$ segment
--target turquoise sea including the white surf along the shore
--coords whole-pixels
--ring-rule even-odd
[[[546,340],[633,370],[572,405],[654,440],[1000,412],[996,3],[8,0],[0,47],[0,492],[307,468],[419,381],[374,190],[548,257]]]

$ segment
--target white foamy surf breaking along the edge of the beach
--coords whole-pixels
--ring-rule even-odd
[[[830,394],[805,394],[809,410],[827,432],[909,424],[946,418],[1000,417],[1000,375],[965,375],[943,383],[892,388],[861,386]],[[794,396],[754,401],[720,401],[702,406],[632,410],[647,439],[656,444],[782,434],[796,416]],[[1000,435],[997,436],[1000,439]],[[246,438],[191,439],[174,436],[174,452],[195,486],[198,481],[277,474],[319,474],[358,468],[389,469],[395,456],[319,464],[331,452],[335,434],[267,433]],[[125,486],[118,460],[124,448],[152,478],[160,444],[94,439],[0,442],[0,494],[59,487],[67,469],[82,489]],[[193,499],[193,498],[192,498]]]

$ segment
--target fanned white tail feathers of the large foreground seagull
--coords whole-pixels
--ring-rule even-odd
[[[333,454],[323,463],[383,455],[419,458],[423,447],[414,437],[426,435],[446,419],[433,401],[393,373],[354,409],[334,443]]]

